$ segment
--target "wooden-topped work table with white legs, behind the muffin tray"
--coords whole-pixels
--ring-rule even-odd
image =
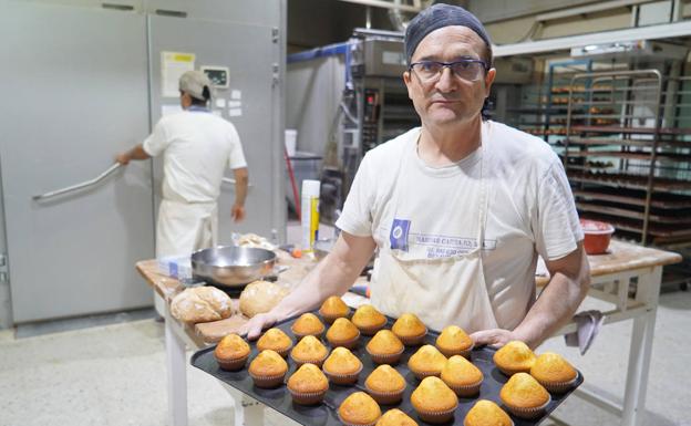
[[[289,267],[278,277],[278,282],[287,287],[297,285],[317,264],[311,258],[293,259],[283,251],[279,251],[278,258],[279,264]],[[592,404],[618,414],[621,417],[621,425],[637,426],[640,418],[638,414],[644,409],[662,268],[680,262],[681,256],[627,242],[612,241],[606,254],[589,256],[588,260],[591,277],[588,295],[613,305],[613,309],[602,312],[604,323],[632,320],[632,332],[623,404],[611,401],[611,397],[598,393],[597,389],[588,389],[586,384],[581,385],[575,393]],[[169,309],[172,299],[184,290],[181,282],[159,273],[156,260],[140,261],[136,263],[136,269],[146,282],[166,300],[165,336],[169,424],[184,426],[187,424],[187,345],[194,349],[208,346],[224,335],[236,332],[247,319],[241,314],[236,314],[221,321],[196,325],[183,324],[171,315]],[[536,277],[536,285],[538,287],[544,287],[548,281],[548,277]],[[344,299],[350,305],[367,301],[359,295],[347,294]],[[576,330],[576,323],[571,322],[558,334]],[[262,405],[233,387],[225,387],[236,399],[236,425],[260,424],[262,422]]]

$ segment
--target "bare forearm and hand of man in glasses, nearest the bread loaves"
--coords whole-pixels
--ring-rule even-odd
[[[331,252],[271,311],[255,315],[240,330],[256,339],[262,329],[277,321],[317,309],[330,295],[343,294],[365,267],[375,242],[372,237],[355,237],[347,232],[336,241]]]

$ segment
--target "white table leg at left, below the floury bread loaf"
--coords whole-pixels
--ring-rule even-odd
[[[168,424],[187,426],[187,362],[185,342],[173,330],[175,320],[165,306],[166,373],[168,375]]]

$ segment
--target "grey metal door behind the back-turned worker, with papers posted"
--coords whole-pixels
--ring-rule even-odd
[[[214,110],[230,121],[240,135],[251,187],[245,204],[247,217],[243,222],[234,224],[230,220],[230,208],[235,200],[235,188],[233,184],[223,184],[218,201],[220,243],[230,243],[231,232],[251,231],[271,237],[272,229],[282,230],[286,207],[282,199],[282,169],[278,163],[282,158],[278,157],[282,156],[282,137],[279,136],[282,105],[276,107],[280,101],[278,83],[274,84],[272,64],[279,61],[279,52],[274,42],[272,28],[151,15],[149,42],[153,123],[161,117],[162,108],[179,103],[175,97],[162,97],[161,52],[194,53],[197,70],[204,65],[229,69],[229,87],[216,91]],[[225,106],[216,106],[217,100],[225,100]],[[241,115],[230,116],[230,111]],[[162,160],[156,158],[155,163],[155,176],[159,183]],[[233,173],[228,169],[226,176],[231,178]],[[156,191],[159,195],[158,185]],[[276,215],[277,210],[281,215]]]

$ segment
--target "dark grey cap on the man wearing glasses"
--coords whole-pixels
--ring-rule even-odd
[[[417,44],[429,33],[440,28],[461,25],[473,30],[485,42],[485,45],[492,52],[492,43],[489,42],[489,35],[482,22],[475,15],[460,6],[451,6],[444,3],[436,3],[422,12],[417,13],[413,18],[408,28],[405,29],[405,59],[408,63],[411,63],[413,53]],[[487,64],[489,66],[492,64]]]

